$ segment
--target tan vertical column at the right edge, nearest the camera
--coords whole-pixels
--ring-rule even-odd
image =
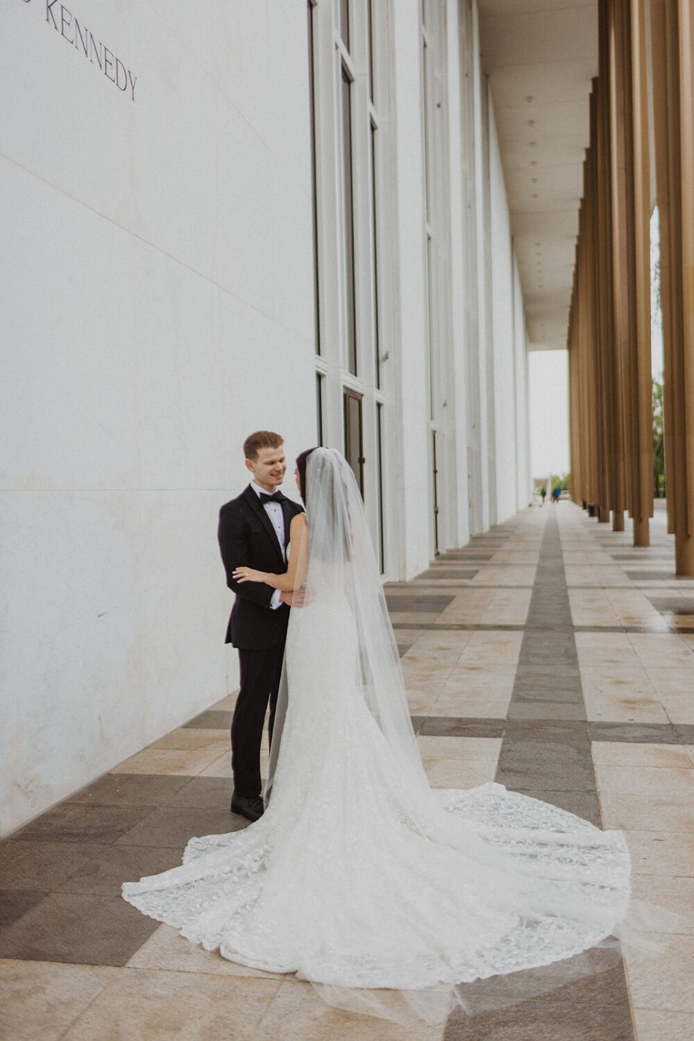
[[[694,50],[692,0],[650,0],[661,223],[668,526],[675,573],[694,575]]]

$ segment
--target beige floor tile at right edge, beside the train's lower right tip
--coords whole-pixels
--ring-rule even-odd
[[[671,936],[659,955],[624,958],[632,1004],[640,1009],[694,1012],[694,944]]]

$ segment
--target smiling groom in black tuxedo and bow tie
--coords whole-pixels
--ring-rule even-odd
[[[238,649],[240,667],[240,687],[231,722],[231,812],[248,820],[257,820],[263,812],[260,741],[268,700],[267,731],[273,739],[292,593],[260,582],[239,585],[232,573],[242,566],[274,575],[287,569],[289,524],[303,507],[278,490],[287,468],[283,446],[280,435],[269,430],[258,430],[247,437],[243,455],[253,480],[237,499],[220,510],[220,550],[227,585],[236,593],[227,643]]]

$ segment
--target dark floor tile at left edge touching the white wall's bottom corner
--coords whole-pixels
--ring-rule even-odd
[[[0,888],[50,891],[108,846],[81,842],[0,844]]]

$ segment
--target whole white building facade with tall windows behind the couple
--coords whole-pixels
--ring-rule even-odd
[[[3,3],[0,834],[234,689],[251,431],[344,451],[384,580],[528,503],[479,54],[474,0]]]

